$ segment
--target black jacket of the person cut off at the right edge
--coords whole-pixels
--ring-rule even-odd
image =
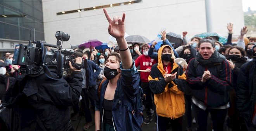
[[[247,123],[253,119],[256,101],[256,60],[240,67],[237,79],[237,109]]]

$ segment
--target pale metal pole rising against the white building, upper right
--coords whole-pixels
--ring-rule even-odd
[[[211,15],[211,1],[205,0],[205,14],[206,14],[206,29],[207,32],[213,32],[213,23]]]

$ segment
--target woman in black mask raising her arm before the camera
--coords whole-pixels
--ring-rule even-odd
[[[125,40],[125,13],[112,20],[107,10],[103,10],[109,22],[109,34],[116,38],[120,55],[113,52],[107,56],[104,68],[107,80],[101,82],[95,99],[95,131],[141,131],[143,120],[127,109],[135,103],[140,78]]]

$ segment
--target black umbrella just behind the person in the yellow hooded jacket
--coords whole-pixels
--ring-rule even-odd
[[[183,43],[182,37],[178,34],[173,33],[173,32],[167,33],[166,34],[166,39],[168,39],[170,43],[175,43],[174,46],[173,46],[174,49],[181,46],[182,43]]]

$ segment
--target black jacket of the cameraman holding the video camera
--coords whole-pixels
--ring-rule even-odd
[[[47,131],[69,130],[69,106],[79,101],[82,81],[78,71],[66,80],[63,77],[52,80],[45,74],[17,77],[2,99],[3,106],[12,108],[11,130],[42,131],[43,127]]]

